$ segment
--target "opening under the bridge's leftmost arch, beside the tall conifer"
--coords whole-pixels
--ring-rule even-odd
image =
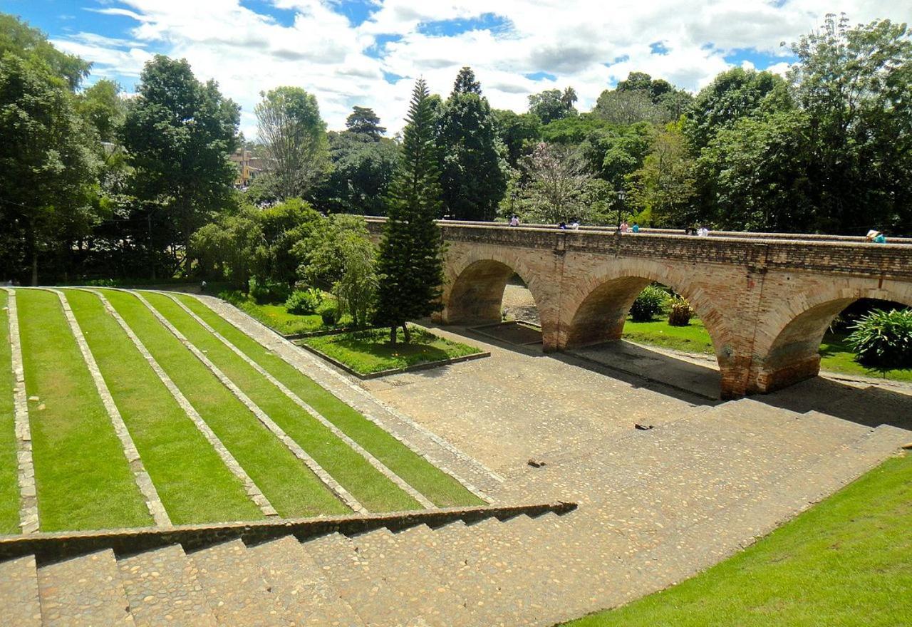
[[[510,314],[539,324],[538,300],[522,274],[512,265],[493,259],[472,262],[452,280],[443,294],[444,322],[494,324],[503,320],[504,294],[511,292]]]

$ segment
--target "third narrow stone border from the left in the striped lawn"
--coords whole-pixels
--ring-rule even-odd
[[[244,468],[241,467],[241,464],[234,458],[231,452],[223,445],[222,440],[215,435],[215,432],[212,431],[212,428],[206,424],[206,421],[202,419],[200,413],[196,411],[196,408],[191,405],[190,401],[187,400],[186,396],[183,396],[183,393],[178,388],[178,386],[171,380],[171,377],[168,376],[168,373],[164,371],[161,365],[155,360],[155,357],[149,352],[149,349],[146,348],[145,344],[142,344],[139,336],[133,332],[133,329],[130,328],[130,325],[127,324],[127,321],[114,309],[113,305],[109,303],[108,299],[105,298],[103,293],[98,292],[94,289],[86,289],[86,292],[93,293],[98,296],[98,299],[105,306],[108,314],[117,321],[120,325],[120,328],[123,329],[124,333],[130,337],[130,341],[136,346],[137,350],[140,351],[140,355],[146,360],[146,362],[151,366],[152,371],[158,375],[161,383],[164,384],[168,391],[171,393],[171,396],[177,402],[178,406],[181,407],[184,414],[189,417],[193,425],[202,433],[202,437],[206,438],[206,441],[215,449],[216,454],[222,459],[223,464],[231,471],[234,477],[238,478],[242,484],[244,484],[244,493],[250,497],[254,504],[263,512],[266,518],[277,518],[278,512],[275,511],[272,503],[269,502],[269,499],[263,494],[263,491],[254,483],[254,479],[247,474]]]

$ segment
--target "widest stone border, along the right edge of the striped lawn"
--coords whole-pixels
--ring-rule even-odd
[[[236,329],[244,334],[250,335],[256,342],[266,348],[269,348],[268,344],[265,344],[267,341],[266,338],[277,337],[278,339],[276,342],[278,344],[276,348],[278,350],[275,350],[275,354],[282,357],[282,359],[284,359],[287,364],[294,367],[295,370],[300,372],[302,375],[313,379],[316,384],[323,386],[327,392],[333,396],[336,396],[343,403],[346,403],[348,406],[351,406],[353,409],[358,411],[370,422],[374,423],[389,433],[389,435],[398,440],[402,446],[408,447],[409,450],[411,450],[416,455],[427,459],[432,466],[440,469],[442,472],[450,475],[452,478],[455,478],[461,483],[462,487],[472,492],[472,494],[474,494],[476,497],[482,499],[486,503],[492,502],[491,497],[485,494],[482,489],[476,487],[471,481],[466,480],[459,473],[453,471],[451,469],[451,465],[444,461],[440,456],[431,453],[430,450],[425,450],[421,447],[418,447],[411,441],[411,437],[416,437],[416,435],[417,437],[426,437],[434,446],[440,447],[441,451],[444,451],[457,462],[463,464],[466,467],[465,469],[468,469],[473,475],[480,476],[488,483],[503,483],[505,479],[494,472],[491,468],[488,468],[477,459],[466,455],[459,448],[454,447],[450,442],[430,431],[430,429],[427,427],[421,426],[409,418],[409,416],[405,416],[399,412],[398,409],[390,406],[389,403],[385,403],[376,396],[371,395],[367,390],[357,385],[351,379],[347,378],[347,376],[342,372],[339,372],[337,369],[331,367],[330,365],[326,365],[321,359],[303,350],[300,346],[292,344],[284,337],[282,337],[281,334],[276,334],[275,330],[270,328],[268,325],[263,324],[259,320],[256,320],[253,316],[241,311],[232,303],[228,303],[220,298],[213,296],[198,294],[191,295],[193,298],[196,298],[206,307],[215,312],[215,314],[222,316],[224,320],[227,320]],[[245,325],[249,328],[245,329]],[[253,330],[257,328],[262,329],[264,332],[259,337],[255,336],[253,333]],[[306,356],[308,364],[312,365],[316,369],[316,373],[307,372],[305,366],[301,365],[300,363],[295,363],[295,360],[291,355]],[[315,375],[317,376],[315,377]],[[373,407],[369,407],[368,404],[373,405]],[[377,415],[377,409],[379,409],[381,413],[387,414],[389,417],[380,418]],[[395,424],[397,422],[400,424]],[[409,430],[413,431],[414,433],[406,436],[403,432]]]

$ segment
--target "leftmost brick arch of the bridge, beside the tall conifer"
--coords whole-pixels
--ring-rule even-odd
[[[442,322],[447,324],[483,324],[501,320],[503,291],[513,273],[529,288],[543,314],[542,278],[532,272],[522,256],[512,250],[491,248],[469,255],[448,252],[441,300]],[[547,325],[542,315],[543,328]]]

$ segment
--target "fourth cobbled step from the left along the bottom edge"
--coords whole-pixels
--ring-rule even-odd
[[[268,590],[259,560],[242,540],[191,553],[197,579],[220,625],[277,627],[290,620]]]

